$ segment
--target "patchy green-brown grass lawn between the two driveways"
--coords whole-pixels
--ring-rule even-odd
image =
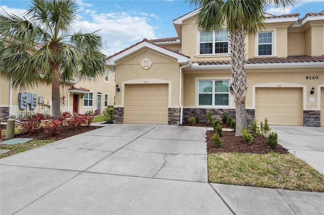
[[[211,183],[324,192],[324,176],[293,154],[208,155]]]

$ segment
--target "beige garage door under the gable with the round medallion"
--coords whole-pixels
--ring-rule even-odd
[[[125,123],[168,124],[168,84],[126,85]]]

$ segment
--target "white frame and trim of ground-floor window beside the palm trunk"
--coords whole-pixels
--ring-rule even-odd
[[[215,103],[215,96],[212,96],[212,105],[199,105],[199,81],[213,81],[213,92],[215,90],[215,81],[228,81],[229,86],[231,85],[231,78],[230,77],[196,77],[195,78],[195,106],[199,108],[233,108],[233,98],[231,93],[228,91],[228,105],[214,105]],[[221,94],[227,93],[227,92],[220,92]]]

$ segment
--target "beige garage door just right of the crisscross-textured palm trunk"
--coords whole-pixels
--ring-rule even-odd
[[[270,125],[303,125],[302,88],[256,88],[255,116]]]

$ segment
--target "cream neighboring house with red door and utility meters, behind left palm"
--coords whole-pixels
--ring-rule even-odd
[[[100,114],[107,105],[114,104],[115,73],[106,70],[105,75],[93,80],[70,80],[60,84],[61,112],[85,114],[99,110]],[[27,95],[27,104],[19,98]],[[30,93],[30,94],[29,94]],[[35,97],[35,99],[34,99]],[[31,105],[34,102],[35,105]],[[7,121],[11,116],[22,117],[26,114],[44,113],[52,115],[51,85],[39,85],[26,90],[13,90],[10,82],[0,74],[0,117]]]

